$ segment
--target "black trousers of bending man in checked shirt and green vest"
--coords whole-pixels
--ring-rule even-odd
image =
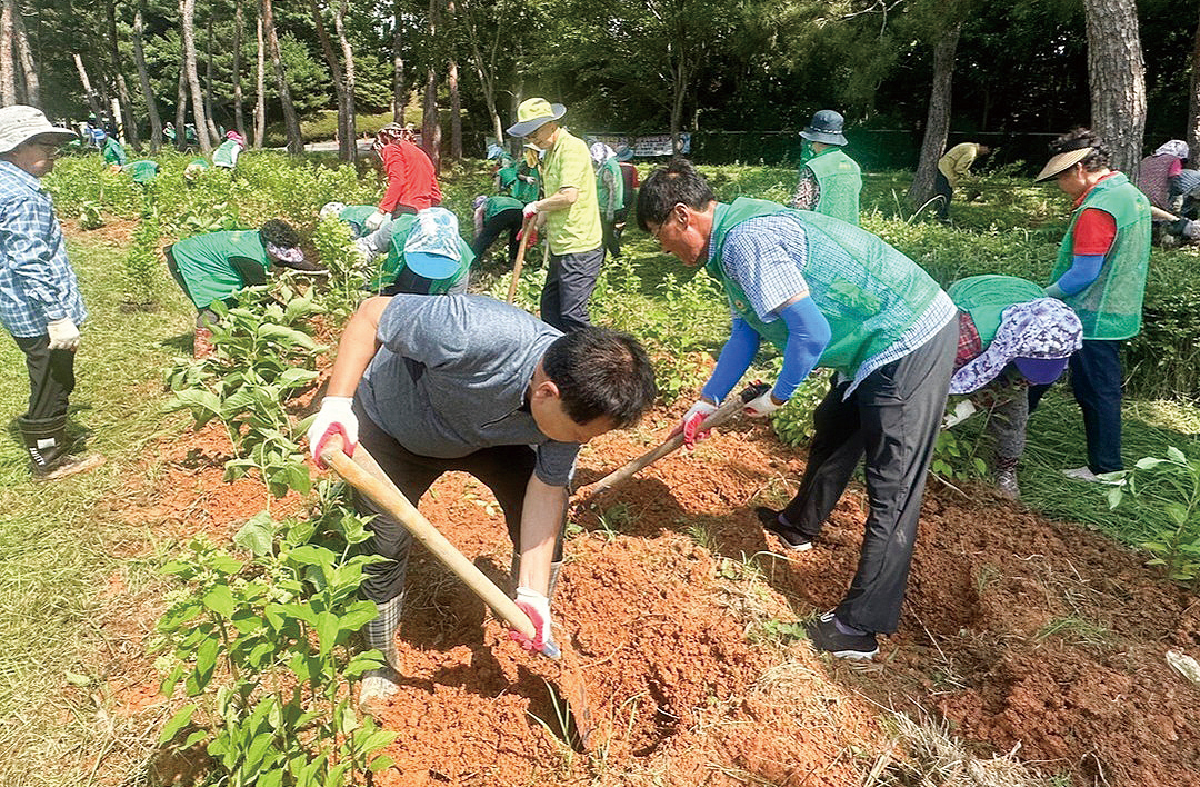
[[[816,536],[866,457],[870,510],[863,552],[835,611],[856,629],[892,633],[900,625],[925,474],[946,411],[958,341],[955,319],[908,355],[871,372],[845,401],[850,383],[835,380],[812,414],[816,433],[808,467],[784,516]]]

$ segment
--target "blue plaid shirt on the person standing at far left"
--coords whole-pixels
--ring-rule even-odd
[[[36,178],[0,161],[0,323],[25,338],[64,317],[79,325],[88,312],[54,203]]]

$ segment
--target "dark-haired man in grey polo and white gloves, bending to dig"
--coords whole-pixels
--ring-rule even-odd
[[[568,483],[580,445],[636,423],[655,397],[654,371],[631,336],[588,326],[569,335],[480,295],[371,298],[350,318],[328,395],[308,429],[320,463],[330,435],[361,443],[416,504],[443,473],[482,481],[504,510],[516,600],[534,623],[530,650],[552,645],[550,599],[563,559]],[[379,606],[366,627],[386,668],[366,677],[359,704],[396,691],[395,635],[412,536],[355,494],[376,554],[364,595]]]

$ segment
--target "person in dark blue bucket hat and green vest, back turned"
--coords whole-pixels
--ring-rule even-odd
[[[800,137],[812,145],[812,157],[800,167],[800,181],[792,196],[792,208],[815,210],[826,216],[858,224],[858,196],[863,170],[841,149],[845,119],[833,109],[812,115]]]

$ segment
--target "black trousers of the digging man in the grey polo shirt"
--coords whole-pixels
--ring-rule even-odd
[[[359,416],[359,443],[371,452],[409,503],[416,505],[443,473],[450,470],[469,473],[496,495],[497,503],[504,511],[504,522],[512,548],[516,553],[521,552],[521,509],[536,461],[533,449],[528,445],[502,445],[451,459],[420,456],[404,449],[396,438],[379,428],[358,401],[354,403],[354,413]],[[362,595],[376,603],[390,601],[404,589],[413,536],[400,522],[361,494],[354,494],[354,507],[364,516],[374,515],[374,519],[367,524],[367,529],[372,533],[366,542],[367,551],[391,559],[390,563],[367,566]],[[562,528],[556,539],[553,559],[563,559]]]

